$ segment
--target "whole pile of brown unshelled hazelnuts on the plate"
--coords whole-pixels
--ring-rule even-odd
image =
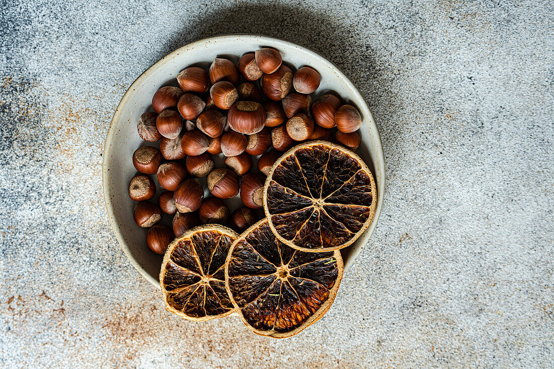
[[[189,66],[177,75],[179,87],[156,91],[155,112],[142,114],[137,129],[143,140],[160,141],[160,148],[137,148],[132,161],[141,174],[129,184],[129,196],[138,202],[135,222],[150,228],[146,243],[153,252],[165,253],[175,237],[197,225],[217,223],[241,233],[257,222],[265,176],[296,143],[332,140],[352,151],[360,146],[356,107],[334,94],[312,102],[319,73],[309,66],[293,73],[282,61],[271,48],[244,54],[238,67],[216,58],[209,71]],[[219,154],[226,167],[214,168],[212,155]],[[252,172],[257,156],[260,173]],[[166,190],[158,204],[149,201],[156,194],[152,175]],[[207,177],[212,196],[204,198],[201,183],[191,177]],[[238,194],[245,207],[230,213],[223,200]],[[175,214],[172,227],[158,224],[162,212]]]

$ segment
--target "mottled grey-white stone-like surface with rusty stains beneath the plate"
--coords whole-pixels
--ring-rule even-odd
[[[554,361],[552,1],[0,1],[0,365],[548,367]],[[126,88],[198,38],[312,48],[372,108],[377,230],[288,340],[164,310],[107,223]]]

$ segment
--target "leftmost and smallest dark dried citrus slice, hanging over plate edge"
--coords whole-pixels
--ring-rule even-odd
[[[168,311],[189,320],[209,320],[231,314],[234,306],[225,290],[224,264],[237,238],[217,224],[187,230],[168,246],[160,271]]]

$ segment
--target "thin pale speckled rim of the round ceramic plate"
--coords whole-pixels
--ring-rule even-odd
[[[173,57],[174,55],[178,55],[180,53],[183,53],[188,48],[197,47],[197,46],[205,44],[207,42],[211,42],[211,41],[219,42],[219,41],[225,40],[227,38],[237,38],[237,37],[243,37],[243,38],[246,38],[246,39],[254,38],[254,39],[259,40],[260,43],[263,43],[264,41],[267,41],[267,42],[269,42],[269,44],[271,44],[271,43],[273,43],[273,44],[275,44],[275,43],[285,44],[288,47],[294,47],[294,48],[297,48],[297,49],[301,49],[304,52],[306,52],[307,54],[311,54],[312,57],[320,58],[320,59],[325,60],[327,63],[329,63],[330,65],[332,65],[336,69],[336,73],[338,74],[338,76],[340,76],[345,81],[348,88],[350,88],[353,91],[353,93],[357,95],[359,100],[363,101],[363,105],[362,106],[358,105],[357,107],[358,107],[358,109],[365,110],[368,117],[370,117],[370,121],[365,122],[365,124],[371,124],[371,125],[373,125],[373,129],[375,129],[376,140],[377,140],[377,143],[378,143],[378,145],[377,145],[378,153],[377,154],[379,154],[379,153],[381,154],[381,155],[376,155],[376,159],[379,161],[380,167],[382,168],[381,180],[379,182],[377,182],[377,173],[374,173],[374,176],[376,177],[375,182],[376,182],[376,187],[377,187],[377,206],[375,208],[375,215],[373,216],[373,220],[370,223],[370,226],[360,236],[360,238],[365,239],[366,243],[371,238],[371,235],[375,231],[375,228],[377,226],[377,221],[379,219],[379,215],[381,214],[381,208],[383,206],[383,198],[384,198],[384,184],[385,184],[385,176],[384,176],[384,174],[385,174],[385,163],[384,163],[384,152],[383,152],[383,144],[382,144],[382,141],[381,141],[381,135],[379,134],[379,130],[378,130],[377,124],[375,122],[375,118],[373,117],[373,113],[371,112],[370,107],[367,105],[366,99],[363,98],[362,94],[356,88],[356,86],[352,83],[350,78],[348,78],[346,76],[346,74],[337,65],[335,65],[335,63],[333,63],[331,60],[325,58],[323,55],[321,55],[319,53],[316,53],[314,50],[311,50],[310,48],[307,48],[307,47],[304,47],[304,46],[301,46],[301,45],[298,45],[298,44],[295,44],[293,42],[289,42],[289,41],[286,41],[286,40],[283,40],[283,39],[274,38],[274,37],[265,36],[265,35],[236,33],[236,34],[217,35],[217,36],[198,39],[196,41],[193,41],[191,43],[183,45],[182,47],[180,47],[176,50],[173,50],[171,53],[165,55],[165,57],[162,57],[160,60],[157,60],[156,63],[153,63],[151,66],[149,66],[148,69],[143,71],[141,73],[141,75],[139,75],[139,77],[137,79],[135,79],[135,81],[125,91],[125,94],[121,98],[119,104],[117,104],[114,115],[112,116],[112,119],[110,121],[110,127],[107,131],[106,139],[104,141],[104,151],[102,151],[102,154],[103,154],[102,155],[102,192],[104,193],[104,202],[106,204],[107,215],[108,215],[108,218],[109,218],[109,221],[110,221],[111,228],[112,228],[112,230],[114,230],[117,242],[119,242],[121,248],[123,249],[123,252],[125,253],[125,255],[127,257],[127,259],[130,260],[131,264],[133,266],[135,266],[135,268],[139,271],[139,273],[144,278],[146,278],[146,280],[148,280],[152,285],[156,286],[157,288],[160,288],[160,281],[157,280],[157,279],[152,278],[152,276],[150,274],[146,273],[146,271],[142,268],[142,266],[139,263],[137,263],[136,260],[132,257],[130,249],[127,246],[127,244],[124,240],[124,237],[121,234],[121,232],[119,231],[119,229],[117,227],[117,224],[115,222],[114,204],[112,204],[111,198],[110,198],[109,193],[107,191],[107,188],[109,187],[109,184],[107,183],[107,181],[108,181],[107,180],[107,172],[108,172],[108,166],[109,166],[108,157],[109,156],[105,155],[105,153],[106,153],[107,148],[109,147],[109,145],[111,144],[111,142],[113,141],[114,136],[115,136],[115,121],[119,120],[119,117],[121,115],[121,106],[123,104],[126,104],[127,100],[130,99],[132,91],[134,91],[135,88],[138,87],[142,83],[142,81],[144,79],[146,79],[147,76],[152,73],[152,71],[155,68],[157,68],[158,63],[160,63],[162,60],[164,60],[168,57]],[[374,167],[375,167],[375,171],[377,171],[377,169],[376,169],[377,165],[374,165]],[[344,266],[345,270],[352,265],[353,260],[355,260],[358,257],[358,255],[361,253],[362,249],[363,249],[363,245],[358,247],[352,253],[352,255],[349,258],[348,262],[345,263],[345,266]]]

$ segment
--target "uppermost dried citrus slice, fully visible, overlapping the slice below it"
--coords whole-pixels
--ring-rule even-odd
[[[302,143],[281,156],[264,186],[264,209],[275,235],[297,250],[350,245],[370,225],[375,181],[355,153],[326,141]]]

